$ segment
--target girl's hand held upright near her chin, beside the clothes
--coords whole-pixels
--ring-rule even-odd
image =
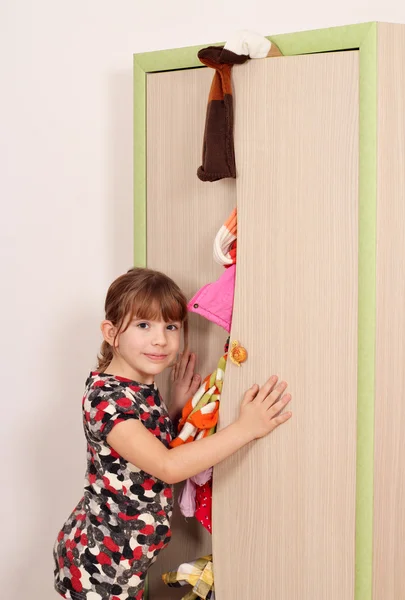
[[[194,374],[196,356],[193,352],[180,354],[172,368],[170,407],[181,411],[201,385],[201,376]]]

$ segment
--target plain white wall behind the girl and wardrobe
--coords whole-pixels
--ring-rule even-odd
[[[83,383],[132,260],[132,54],[240,28],[405,23],[400,4],[1,0],[2,598],[56,598],[52,545],[82,492]]]

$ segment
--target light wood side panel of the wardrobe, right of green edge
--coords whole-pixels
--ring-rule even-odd
[[[405,26],[378,24],[373,600],[405,598]]]

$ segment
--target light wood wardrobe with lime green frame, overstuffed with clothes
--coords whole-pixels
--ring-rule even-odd
[[[135,264],[191,298],[237,207],[248,359],[228,361],[219,429],[272,374],[293,396],[288,423],[214,468],[212,536],[175,510],[149,599],[182,598],[161,574],[212,552],[216,600],[403,600],[405,25],[269,39],[282,57],[233,68],[237,177],[214,183],[196,176],[208,44],[134,57]],[[226,338],[190,315],[203,377]]]

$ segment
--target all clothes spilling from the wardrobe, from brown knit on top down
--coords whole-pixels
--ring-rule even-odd
[[[225,46],[210,46],[200,50],[200,61],[215,69],[208,99],[203,141],[203,162],[197,171],[202,181],[218,181],[236,177],[233,149],[233,99],[231,70],[234,64],[243,64],[249,58],[280,56],[279,49],[269,40],[252,32],[239,32]],[[237,209],[234,208],[215,236],[213,258],[224,267],[222,275],[199,289],[188,303],[188,310],[216,325],[231,331],[236,277]],[[171,446],[176,447],[200,440],[216,431],[223,378],[228,352],[233,362],[233,343],[229,351],[229,337],[225,353],[217,368],[208,375],[199,390],[185,405],[178,425],[178,435]],[[245,360],[245,358],[243,359]],[[179,495],[179,507],[185,517],[195,517],[212,534],[212,479],[213,469],[207,469],[188,479]],[[207,575],[208,574],[208,575]],[[162,575],[169,586],[193,586],[183,600],[205,598],[214,600],[212,556],[182,564],[176,571]],[[209,582],[209,583],[207,583]]]

